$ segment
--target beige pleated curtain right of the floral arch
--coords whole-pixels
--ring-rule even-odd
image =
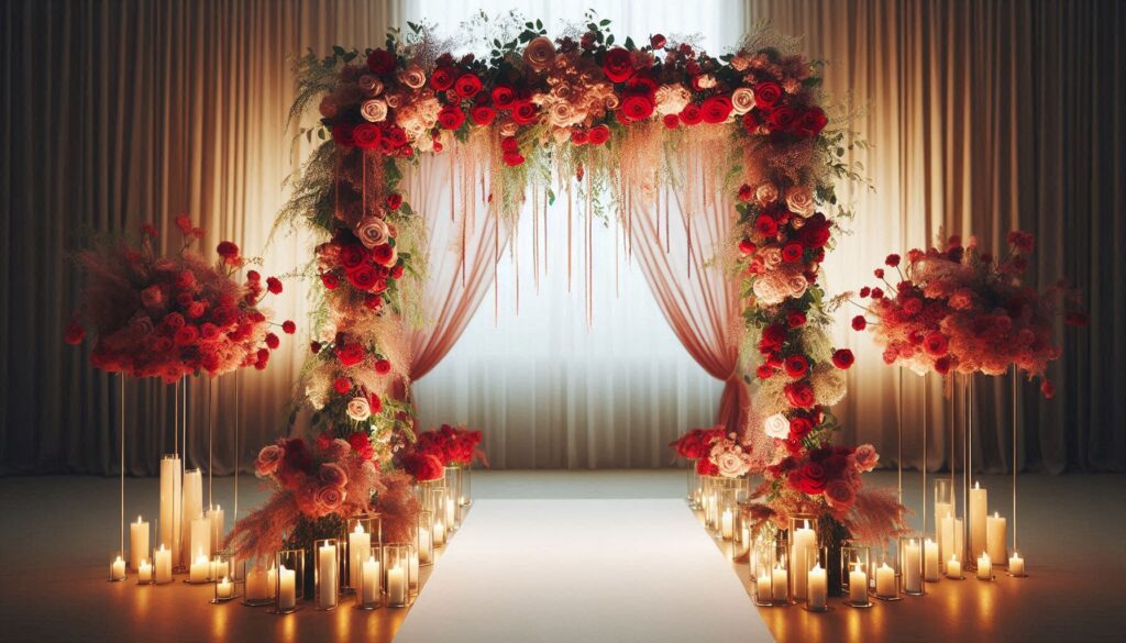
[[[1123,252],[1121,33],[1126,5],[1064,0],[751,0],[749,24],[769,18],[802,34],[811,57],[830,61],[829,91],[851,93],[856,123],[874,148],[857,153],[876,191],[852,190],[854,234],[830,253],[830,291],[872,280],[885,252],[927,243],[940,230],[976,234],[997,249],[1011,229],[1037,235],[1030,280],[1073,278],[1091,327],[1064,330],[1049,369],[1060,393],[1035,385],[1018,396],[1018,465],[1126,468],[1126,297]],[[841,315],[842,319],[846,315]],[[838,320],[842,322],[842,320]],[[857,350],[849,395],[837,408],[851,441],[873,441],[882,463],[896,453],[899,373],[870,338],[846,331]],[[903,459],[921,464],[923,383],[903,374]],[[974,463],[1012,465],[1011,379],[978,377]],[[931,382],[930,468],[949,462],[948,418]]]

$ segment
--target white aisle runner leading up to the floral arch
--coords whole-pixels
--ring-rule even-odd
[[[772,638],[682,500],[477,500],[395,641]]]

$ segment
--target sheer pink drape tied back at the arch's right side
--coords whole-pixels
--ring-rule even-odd
[[[633,251],[680,343],[724,382],[716,423],[741,430],[750,403],[739,363],[740,298],[721,253],[735,221],[734,203],[717,185],[704,148],[670,158],[672,185],[629,196]]]

